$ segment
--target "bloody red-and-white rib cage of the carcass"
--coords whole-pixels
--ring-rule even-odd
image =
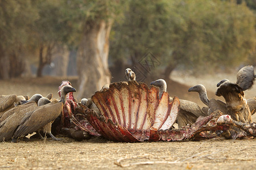
[[[179,99],[164,92],[159,100],[158,88],[130,81],[112,83],[108,90],[97,91],[92,101],[100,115],[87,109],[90,124],[113,141],[139,142],[150,139],[150,131],[166,130],[176,121]]]

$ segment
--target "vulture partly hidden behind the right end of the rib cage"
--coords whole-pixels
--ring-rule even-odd
[[[163,79],[158,79],[151,82],[150,85],[159,87],[159,99],[161,99],[163,92],[166,92],[166,81]],[[172,97],[170,97],[170,100],[172,100]],[[207,116],[207,114],[200,109],[199,105],[193,103],[192,101],[180,99],[180,111],[177,115],[177,124],[179,128],[186,126],[187,124],[192,125],[200,116]]]

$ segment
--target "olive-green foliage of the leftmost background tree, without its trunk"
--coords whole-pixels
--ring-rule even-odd
[[[30,0],[0,1],[0,46],[5,53],[22,48],[27,42],[29,26],[38,17]],[[0,54],[1,58],[1,54]]]

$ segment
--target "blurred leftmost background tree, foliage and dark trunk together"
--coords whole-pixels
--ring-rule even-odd
[[[0,79],[22,74],[28,28],[37,16],[30,0],[0,1]]]

